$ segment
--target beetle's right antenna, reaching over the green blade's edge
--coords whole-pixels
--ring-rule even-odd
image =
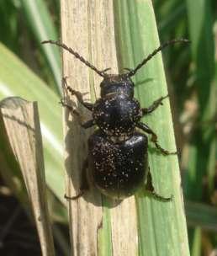
[[[166,48],[168,45],[173,45],[173,44],[176,44],[176,43],[189,43],[190,41],[187,40],[187,39],[174,39],[174,40],[170,40],[170,41],[167,41],[166,43],[160,45],[158,48],[156,48],[155,51],[153,51],[149,56],[146,57],[146,59],[144,59],[143,61],[140,62],[140,64],[138,64],[135,69],[132,69],[130,72],[126,73],[125,75],[127,77],[133,77],[135,75],[135,73],[141,68],[143,67],[144,65],[146,65],[146,63],[148,61],[151,60],[151,58],[153,56],[156,55],[156,53],[158,51],[161,51],[163,50],[164,48]]]

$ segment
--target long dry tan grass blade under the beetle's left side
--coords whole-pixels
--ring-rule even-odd
[[[111,67],[111,72],[118,73],[113,8],[111,0],[64,0],[61,2],[61,31],[62,41],[99,70]],[[86,93],[86,100],[94,99],[95,91],[99,95],[102,78],[66,51],[63,51],[63,73],[70,76],[71,87]],[[79,104],[77,108],[82,114],[87,113]],[[82,130],[67,112],[65,130],[66,193],[73,196],[81,184],[82,162],[87,155],[87,137],[91,131]],[[113,207],[114,202],[103,200],[96,189],[92,189],[79,200],[69,201],[69,205],[74,255],[137,254],[134,197]]]

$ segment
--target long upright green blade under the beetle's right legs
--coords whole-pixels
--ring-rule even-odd
[[[114,6],[120,68],[135,67],[143,56],[159,46],[151,1],[115,1]],[[137,73],[135,83],[136,96],[142,107],[167,95],[161,54]],[[156,131],[162,147],[175,150],[168,100],[144,121]],[[151,145],[149,162],[157,193],[172,194],[174,199],[171,203],[163,203],[144,198],[141,194],[136,197],[140,255],[189,255],[177,157],[158,155]]]

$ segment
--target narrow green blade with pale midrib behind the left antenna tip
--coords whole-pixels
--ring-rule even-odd
[[[56,29],[51,19],[51,15],[46,7],[45,1],[21,0],[24,13],[29,27],[34,34],[35,40],[45,53],[46,60],[50,66],[56,82],[56,91],[61,94],[61,58],[60,52],[55,47],[40,44],[43,40],[57,40]]]

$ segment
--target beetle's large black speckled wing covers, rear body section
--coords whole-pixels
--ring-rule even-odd
[[[103,195],[114,199],[134,195],[145,182],[147,146],[147,136],[139,131],[119,143],[95,131],[88,140],[89,179]]]

